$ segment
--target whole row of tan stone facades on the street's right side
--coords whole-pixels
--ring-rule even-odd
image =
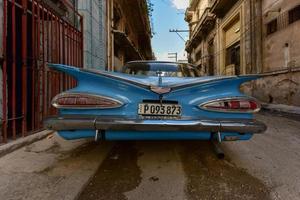
[[[300,106],[299,1],[191,0],[189,61],[204,75],[264,74],[247,91]]]

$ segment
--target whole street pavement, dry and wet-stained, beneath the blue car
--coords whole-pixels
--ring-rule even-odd
[[[66,141],[56,134],[0,158],[0,199],[300,200],[298,116],[262,112],[264,134],[224,142]]]

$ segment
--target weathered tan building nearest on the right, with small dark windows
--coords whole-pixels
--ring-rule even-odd
[[[300,2],[262,1],[262,72],[253,95],[264,102],[300,106]]]

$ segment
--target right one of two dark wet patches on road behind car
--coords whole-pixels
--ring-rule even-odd
[[[268,188],[260,180],[231,164],[227,158],[218,160],[210,143],[182,142],[182,146],[188,199],[270,199]]]

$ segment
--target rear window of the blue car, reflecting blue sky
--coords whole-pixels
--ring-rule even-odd
[[[131,62],[127,63],[122,70],[131,75],[161,76],[165,77],[198,77],[200,71],[190,64],[164,63],[164,62]]]

